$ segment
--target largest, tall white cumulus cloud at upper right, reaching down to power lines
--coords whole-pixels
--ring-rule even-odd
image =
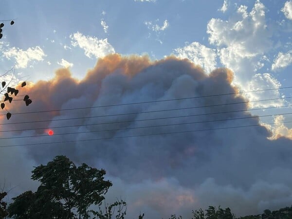
[[[268,68],[263,70],[265,66],[271,66],[268,57],[275,48],[273,29],[266,18],[266,10],[265,5],[257,0],[250,10],[246,5],[239,5],[237,13],[227,20],[212,18],[207,25],[209,42],[217,47],[223,66],[235,72],[234,84],[243,91],[248,91],[255,83],[256,87],[261,88],[278,87],[274,75],[265,74]],[[273,68],[276,69],[276,66],[274,64]],[[280,97],[278,94],[274,92],[272,96]],[[253,93],[252,99],[268,99],[272,96],[268,92]]]

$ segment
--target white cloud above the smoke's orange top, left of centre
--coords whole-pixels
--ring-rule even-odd
[[[88,57],[104,57],[108,54],[115,53],[113,47],[108,43],[108,39],[98,39],[97,37],[85,36],[79,32],[70,35],[71,44],[84,49]]]

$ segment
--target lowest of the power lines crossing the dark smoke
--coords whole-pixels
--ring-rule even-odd
[[[283,123],[292,123],[292,121],[290,121],[290,122],[280,122],[280,123],[266,123],[265,125],[276,125],[276,124],[283,124]],[[63,143],[73,143],[73,142],[97,141],[97,140],[112,140],[112,139],[120,139],[120,138],[132,138],[132,137],[143,137],[143,136],[179,134],[179,133],[187,133],[187,132],[223,130],[223,129],[230,129],[230,128],[247,128],[247,127],[256,127],[256,126],[262,126],[262,125],[261,124],[256,124],[256,125],[234,126],[234,127],[224,127],[224,128],[208,128],[208,129],[197,129],[197,130],[175,131],[175,132],[163,132],[163,133],[153,133],[153,134],[143,134],[143,135],[117,136],[117,137],[109,137],[109,138],[95,138],[95,139],[84,139],[84,140],[73,140],[73,141],[60,141],[60,142],[45,142],[45,143],[33,143],[33,144],[22,144],[22,145],[6,145],[6,146],[0,146],[0,147],[37,146],[37,145],[63,144]]]

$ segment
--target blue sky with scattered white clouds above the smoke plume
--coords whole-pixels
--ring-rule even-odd
[[[234,84],[242,91],[289,87],[292,24],[291,3],[285,6],[285,2],[4,1],[2,18],[17,19],[13,27],[4,29],[2,42],[9,46],[2,57],[2,71],[21,62],[19,77],[36,82],[53,78],[63,65],[82,79],[98,58],[110,53],[148,55],[151,60],[176,55],[189,58],[206,72],[217,67],[231,69]],[[233,29],[237,22],[242,29]],[[290,90],[267,93],[249,98],[292,95]]]

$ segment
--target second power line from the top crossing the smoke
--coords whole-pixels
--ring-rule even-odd
[[[233,105],[233,104],[244,104],[244,103],[254,103],[254,102],[261,102],[261,101],[271,101],[271,100],[279,100],[279,99],[290,99],[290,98],[292,98],[292,97],[273,98],[273,99],[264,99],[264,100],[253,100],[253,101],[243,101],[243,102],[236,102],[236,103],[205,105],[205,106],[198,106],[198,107],[186,107],[186,108],[167,109],[167,110],[152,110],[152,111],[130,112],[130,113],[120,113],[120,114],[110,114],[110,115],[75,117],[75,118],[66,118],[66,119],[52,119],[52,120],[40,120],[40,121],[29,121],[29,122],[2,123],[0,125],[52,122],[52,121],[63,121],[63,120],[73,120],[73,119],[88,119],[88,118],[97,118],[97,117],[108,117],[108,116],[129,115],[129,114],[150,113],[150,112],[163,112],[163,111],[173,111],[173,110],[188,110],[188,109],[198,109],[198,108],[205,108],[205,107],[219,107],[219,106]],[[289,105],[289,106],[291,106],[291,105]],[[288,107],[288,106],[285,106],[285,107]],[[275,108],[279,108],[279,107],[275,107]],[[265,110],[265,109],[270,109],[270,108],[259,108],[259,109],[255,109],[255,110]]]

